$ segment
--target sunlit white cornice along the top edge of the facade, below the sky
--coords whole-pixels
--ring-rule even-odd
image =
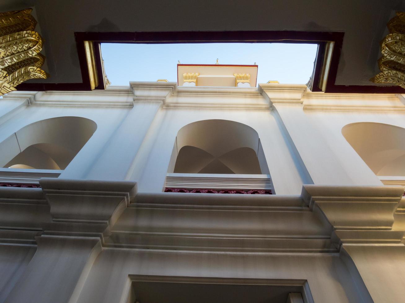
[[[92,91],[15,91],[4,96],[28,105],[133,107],[162,102],[170,108],[272,109],[273,103],[303,104],[304,110],[405,112],[405,98],[394,94],[311,92],[304,84],[259,84],[257,88],[177,86],[176,82],[130,82]]]

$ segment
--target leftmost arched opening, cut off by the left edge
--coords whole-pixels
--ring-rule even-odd
[[[57,117],[24,126],[0,143],[0,167],[65,169],[96,131],[82,117]]]

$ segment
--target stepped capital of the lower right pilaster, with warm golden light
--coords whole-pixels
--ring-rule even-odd
[[[405,232],[393,231],[402,186],[303,185],[309,208],[333,226],[331,239],[342,243],[400,243]]]

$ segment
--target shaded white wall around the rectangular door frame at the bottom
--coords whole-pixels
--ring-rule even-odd
[[[106,273],[108,273],[106,275]],[[364,302],[338,254],[251,254],[104,249],[78,303],[125,302],[128,275],[307,280],[315,302]]]

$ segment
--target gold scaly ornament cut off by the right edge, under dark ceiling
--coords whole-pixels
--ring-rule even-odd
[[[381,73],[370,81],[392,83],[405,88],[405,12],[396,12],[387,27],[390,34],[381,41],[382,57],[378,60]]]

